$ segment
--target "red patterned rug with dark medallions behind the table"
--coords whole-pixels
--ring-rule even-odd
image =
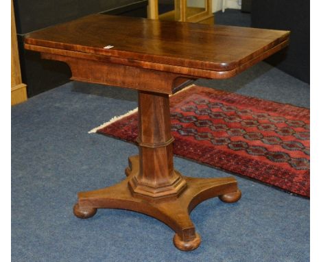
[[[309,197],[309,109],[200,86],[170,103],[174,154]],[[137,112],[96,130],[135,143]]]

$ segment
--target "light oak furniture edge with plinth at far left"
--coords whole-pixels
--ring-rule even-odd
[[[16,40],[16,23],[14,6],[11,1],[11,105],[27,100],[27,86],[21,80],[18,43]]]

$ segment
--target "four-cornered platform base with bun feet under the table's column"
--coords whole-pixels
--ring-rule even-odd
[[[78,203],[73,207],[77,217],[88,218],[95,215],[97,209],[127,209],[150,215],[164,222],[175,231],[174,245],[184,251],[200,246],[200,235],[189,213],[209,198],[219,197],[223,202],[233,203],[241,198],[235,178],[189,178],[183,176],[187,187],[175,198],[141,198],[132,195],[128,181],[139,173],[139,156],[129,158],[126,169],[128,178],[115,184],[88,192],[78,193]]]

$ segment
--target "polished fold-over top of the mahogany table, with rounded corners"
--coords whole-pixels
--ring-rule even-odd
[[[25,47],[226,72],[263,60],[288,38],[288,31],[93,14],[32,32]]]

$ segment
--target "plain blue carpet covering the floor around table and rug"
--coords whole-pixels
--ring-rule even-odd
[[[309,106],[309,85],[261,62],[231,80],[237,93]],[[225,86],[225,87],[224,87]],[[70,82],[12,107],[12,261],[309,261],[309,200],[237,177],[235,204],[207,200],[191,213],[202,237],[177,250],[158,220],[122,210],[73,215],[78,191],[125,177],[136,146],[88,131],[136,107],[136,92]],[[175,158],[186,176],[230,176]]]

